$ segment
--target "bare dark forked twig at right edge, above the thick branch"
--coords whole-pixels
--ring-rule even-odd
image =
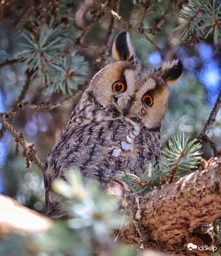
[[[214,122],[215,122],[215,118],[218,114],[218,111],[221,108],[221,90],[220,90],[220,94],[217,97],[217,100],[215,102],[215,105],[213,107],[213,110],[210,112],[210,116],[206,122],[206,124],[204,125],[203,130],[200,132],[200,134],[197,136],[197,142],[198,143],[203,143],[203,142],[209,142],[211,148],[213,149],[213,154],[214,156],[216,156],[217,154],[217,145],[215,144],[215,142],[213,142],[209,137],[208,137],[208,133],[211,129],[211,127],[213,126]]]

